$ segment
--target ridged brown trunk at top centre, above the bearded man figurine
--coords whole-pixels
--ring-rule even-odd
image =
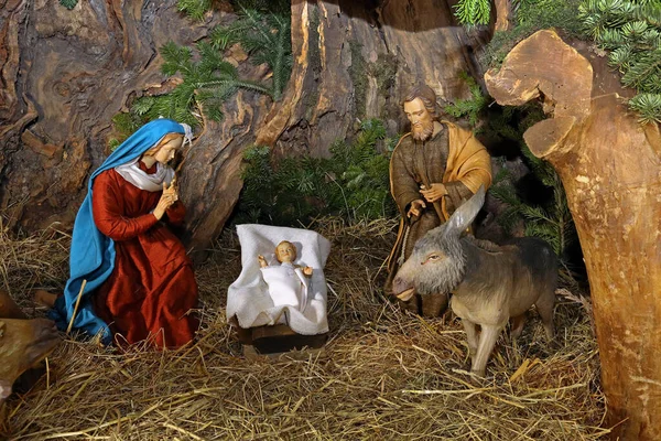
[[[400,101],[413,84],[468,97],[458,74],[480,76],[469,53],[485,36],[456,26],[444,0],[292,0],[294,68],[257,143],[327,155],[366,118],[403,131]]]

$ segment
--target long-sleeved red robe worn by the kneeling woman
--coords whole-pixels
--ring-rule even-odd
[[[154,173],[156,165],[147,169]],[[197,283],[182,243],[151,213],[162,192],[148,192],[115,170],[100,173],[93,185],[97,228],[115,240],[115,269],[98,289],[95,312],[110,325],[116,343],[154,336],[158,347],[177,347],[193,340],[198,321]],[[181,225],[186,209],[174,203],[163,216]],[[120,336],[121,334],[121,336]]]

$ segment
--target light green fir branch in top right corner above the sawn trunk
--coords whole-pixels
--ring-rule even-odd
[[[611,51],[608,64],[638,95],[629,107],[639,121],[661,121],[661,2],[585,0],[578,18],[599,47]]]

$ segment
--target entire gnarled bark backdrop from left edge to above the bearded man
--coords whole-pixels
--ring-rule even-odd
[[[112,117],[165,86],[158,49],[169,40],[192,45],[231,19],[224,7],[193,22],[175,3],[90,0],[68,11],[56,1],[0,0],[0,207],[10,226],[71,227],[89,174],[109,153]],[[365,118],[404,131],[400,100],[415,82],[454,100],[468,97],[458,74],[479,75],[470,54],[486,35],[456,26],[446,0],[292,0],[291,8],[294,68],[283,98],[271,106],[237,94],[225,120],[208,122],[186,153],[180,183],[193,249],[206,249],[230,216],[242,153],[256,138],[281,153],[327,155]],[[240,63],[252,79],[264,73]]]

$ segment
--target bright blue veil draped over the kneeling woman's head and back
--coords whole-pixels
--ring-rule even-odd
[[[85,196],[74,223],[69,257],[71,276],[66,282],[64,295],[57,298],[54,309],[48,313],[61,330],[66,330],[72,320],[83,280],[87,280],[74,320],[74,327],[85,331],[88,335],[100,333],[105,344],[111,343],[112,336],[108,325],[94,313],[90,294],[112,273],[115,241],[101,234],[94,223],[91,186],[94,179],[99,173],[140,157],[167,133],[184,135],[185,130],[182,125],[171,119],[156,119],[148,122],[122,142],[89,178],[87,196]]]

